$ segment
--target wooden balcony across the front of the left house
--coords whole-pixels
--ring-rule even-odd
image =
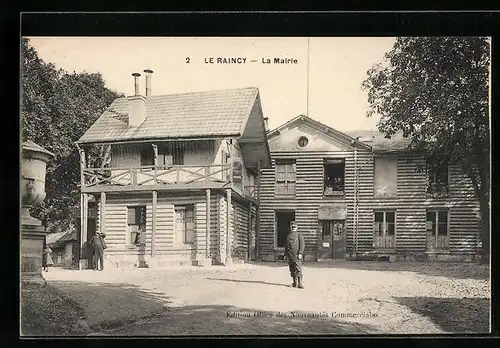
[[[223,188],[231,183],[229,164],[85,168],[82,192]]]

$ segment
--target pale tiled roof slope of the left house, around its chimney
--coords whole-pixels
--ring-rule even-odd
[[[248,87],[149,96],[137,127],[127,124],[129,101],[118,98],[77,142],[239,135],[258,93]]]

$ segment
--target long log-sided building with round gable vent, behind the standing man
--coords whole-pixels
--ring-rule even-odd
[[[348,135],[306,116],[268,139],[260,259],[282,257],[291,220],[305,234],[306,260],[477,256],[478,203],[458,167],[409,152],[402,137]]]

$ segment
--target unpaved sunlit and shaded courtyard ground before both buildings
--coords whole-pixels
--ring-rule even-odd
[[[488,332],[488,273],[476,264],[310,263],[302,290],[274,263],[44,275],[87,309],[97,334],[303,335]]]

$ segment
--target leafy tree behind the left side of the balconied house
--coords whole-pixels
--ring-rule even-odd
[[[79,154],[74,142],[119,97],[99,73],[67,73],[45,63],[28,39],[22,40],[22,141],[32,140],[54,153],[47,166],[47,197],[32,214],[66,227],[80,204]],[[100,149],[87,151],[99,161]]]

